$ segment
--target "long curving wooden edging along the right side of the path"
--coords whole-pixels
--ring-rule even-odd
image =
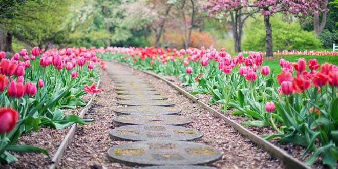
[[[126,66],[129,66],[129,65],[126,65]],[[131,67],[131,66],[129,66],[129,67]],[[133,68],[133,67],[131,67],[131,68]],[[133,69],[135,69],[135,68],[133,68]],[[138,69],[136,69],[136,70],[138,70]],[[165,81],[168,85],[170,85],[173,88],[175,88],[176,90],[178,90],[181,94],[185,95],[186,97],[188,97],[192,101],[196,102],[197,104],[202,105],[203,108],[208,110],[210,113],[214,114],[216,117],[221,118],[224,122],[228,123],[231,127],[233,127],[235,130],[237,130],[243,136],[245,136],[246,138],[250,139],[252,142],[256,143],[258,146],[260,146],[263,150],[272,154],[277,159],[281,160],[286,167],[288,167],[288,168],[311,168],[310,166],[305,165],[300,160],[298,160],[298,159],[294,158],[293,156],[287,154],[285,151],[283,151],[282,149],[280,149],[276,145],[273,145],[271,142],[266,141],[265,139],[261,138],[260,136],[252,133],[251,131],[244,128],[242,125],[240,125],[240,124],[236,123],[235,121],[227,118],[226,116],[224,116],[219,111],[217,111],[217,110],[213,109],[212,107],[210,107],[209,105],[201,102],[198,98],[196,98],[192,94],[186,92],[184,89],[180,88],[179,86],[175,85],[173,82],[168,81],[168,80],[166,80],[166,79],[164,79],[164,78],[162,78],[162,77],[160,77],[157,74],[152,73],[152,72],[147,72],[147,71],[143,71],[143,70],[139,70],[139,71],[141,71],[142,73],[154,76],[157,79],[160,79],[162,81]]]

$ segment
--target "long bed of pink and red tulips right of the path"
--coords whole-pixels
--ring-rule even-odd
[[[336,56],[328,56],[336,57]],[[324,165],[335,168],[338,159],[338,67],[318,64],[316,59],[279,61],[281,73],[263,66],[261,52],[231,56],[220,51],[196,48],[117,48],[110,47],[104,59],[126,62],[158,74],[178,76],[192,94],[211,94],[209,104],[221,103],[221,110],[249,119],[245,126],[268,126],[275,130],[263,136],[280,143],[306,147],[313,154],[312,165],[321,156]],[[295,60],[295,58],[294,58]],[[307,68],[308,67],[308,68]]]

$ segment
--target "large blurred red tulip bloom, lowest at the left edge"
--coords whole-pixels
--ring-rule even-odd
[[[9,133],[19,118],[19,113],[12,108],[0,108],[0,134]]]

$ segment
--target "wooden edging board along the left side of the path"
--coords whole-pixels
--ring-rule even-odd
[[[100,79],[97,82],[97,88],[99,87],[99,85],[100,85]],[[85,107],[87,107],[87,108],[85,108],[81,111],[81,113],[78,115],[79,117],[83,118],[83,116],[85,116],[85,114],[88,113],[89,108],[91,108],[92,104],[94,103],[93,99],[95,99],[95,97],[96,97],[96,93],[94,93],[94,96],[85,105]],[[64,138],[64,140],[62,140],[60,146],[58,147],[56,153],[54,154],[54,156],[51,160],[51,166],[49,167],[49,169],[55,169],[59,165],[61,158],[64,156],[65,151],[67,150],[69,144],[72,142],[72,139],[73,139],[74,134],[76,132],[77,126],[78,126],[77,123],[74,123],[71,126],[71,129],[68,131],[66,137]]]

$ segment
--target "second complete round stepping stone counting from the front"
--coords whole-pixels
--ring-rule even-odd
[[[112,139],[126,141],[191,141],[202,136],[203,133],[195,129],[174,125],[127,125],[110,131]]]

